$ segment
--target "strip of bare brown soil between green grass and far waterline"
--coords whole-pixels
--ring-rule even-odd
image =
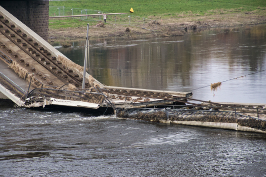
[[[261,15],[262,14],[262,15]],[[246,29],[251,29],[253,25],[266,23],[266,11],[263,13],[246,12],[246,13],[231,13],[219,14],[211,16],[196,16],[196,17],[173,17],[169,19],[160,19],[157,24],[157,31],[142,29],[135,26],[122,26],[113,24],[90,26],[89,36],[93,38],[108,37],[108,36],[125,36],[129,39],[146,38],[154,36],[175,36],[184,35],[194,31],[217,27],[239,27],[243,26]],[[154,23],[149,23],[145,27],[154,29]],[[86,28],[61,28],[49,29],[49,42],[54,41],[70,41],[86,37]],[[130,32],[126,31],[130,29]]]

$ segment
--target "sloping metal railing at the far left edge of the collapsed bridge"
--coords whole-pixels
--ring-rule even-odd
[[[3,73],[0,72],[0,83],[6,87],[10,92],[15,94],[21,100],[24,100],[26,97],[26,92]]]

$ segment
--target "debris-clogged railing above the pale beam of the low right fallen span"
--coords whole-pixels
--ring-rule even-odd
[[[154,108],[117,108],[116,115],[121,118],[137,118],[145,120],[179,120],[238,123],[266,130],[266,120],[241,115],[229,111],[205,111],[184,109],[154,109]]]

